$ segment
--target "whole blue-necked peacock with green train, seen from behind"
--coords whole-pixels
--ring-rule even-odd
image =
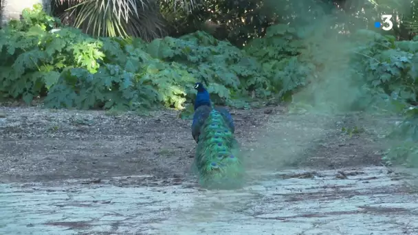
[[[234,137],[234,121],[223,107],[212,102],[201,82],[195,85],[192,136],[197,143],[194,168],[204,188],[233,189],[243,186],[243,162]]]

